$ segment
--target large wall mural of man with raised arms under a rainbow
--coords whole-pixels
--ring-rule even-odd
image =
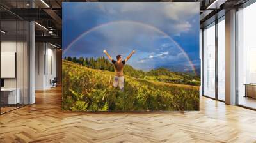
[[[68,111],[199,110],[199,3],[63,3]]]

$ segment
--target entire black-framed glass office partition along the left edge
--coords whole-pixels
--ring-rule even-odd
[[[29,8],[29,1],[1,1],[15,8]],[[0,114],[29,104],[29,22],[0,8]]]

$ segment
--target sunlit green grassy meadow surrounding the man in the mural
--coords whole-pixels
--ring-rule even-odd
[[[124,92],[114,88],[115,73],[63,60],[63,110],[145,111],[198,110],[198,86],[159,82],[150,76],[125,75]]]

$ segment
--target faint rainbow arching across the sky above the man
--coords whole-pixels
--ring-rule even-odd
[[[156,31],[157,33],[160,33],[160,34],[163,34],[163,36],[165,36],[166,38],[168,38],[169,40],[171,40],[178,48],[179,50],[184,54],[185,58],[188,60],[189,62],[189,66],[191,66],[193,72],[195,73],[196,75],[196,71],[195,71],[195,66],[193,66],[193,63],[192,61],[190,60],[188,54],[185,52],[185,50],[180,47],[179,43],[177,43],[175,40],[173,40],[173,38],[171,36],[169,36],[168,34],[164,33],[164,31],[161,31],[160,29],[158,29],[157,27],[154,27],[154,26],[151,26],[149,24],[145,24],[145,23],[142,23],[142,22],[135,22],[135,21],[129,21],[129,20],[120,20],[120,21],[113,21],[113,22],[108,22],[108,23],[105,23],[105,24],[101,24],[99,26],[95,26],[93,27],[92,29],[89,29],[88,31],[84,31],[84,33],[80,34],[79,36],[77,36],[76,39],[74,39],[71,43],[69,43],[69,45],[67,46],[67,48],[65,48],[63,50],[63,55],[65,54],[65,52],[67,52],[71,47],[72,45],[74,45],[74,43],[76,43],[78,40],[80,40],[83,36],[85,36],[86,34],[89,34],[91,33],[92,31],[95,31],[97,29],[99,29],[100,27],[104,27],[104,26],[109,26],[111,24],[134,24],[134,25],[137,25],[137,26],[144,26],[144,27],[148,27],[149,29],[152,29],[154,31]]]

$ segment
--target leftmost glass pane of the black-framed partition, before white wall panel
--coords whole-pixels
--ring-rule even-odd
[[[17,109],[17,21],[1,20],[1,114]],[[18,96],[17,96],[18,94]]]

